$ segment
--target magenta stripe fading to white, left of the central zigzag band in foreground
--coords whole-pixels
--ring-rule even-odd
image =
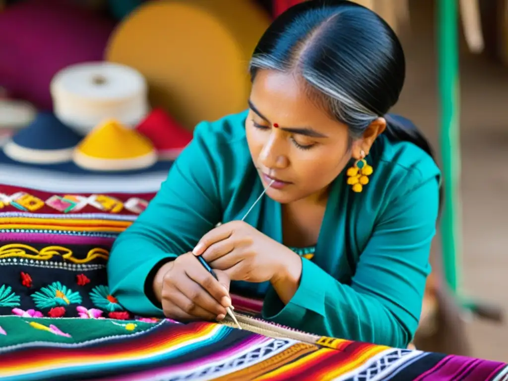
[[[262,335],[252,335],[247,340],[235,344],[235,346],[230,347],[226,351],[219,351],[205,358],[198,359],[196,361],[191,361],[183,364],[172,365],[165,368],[156,368],[153,370],[147,370],[139,373],[130,373],[120,375],[118,377],[112,378],[104,378],[104,380],[108,381],[134,381],[134,380],[145,380],[145,379],[155,379],[158,377],[167,377],[175,374],[176,372],[190,372],[193,368],[197,368],[207,363],[212,363],[215,361],[225,361],[227,359],[231,359],[234,356],[237,356],[240,352],[246,350],[249,347],[253,347],[255,345],[262,344],[265,341],[271,341],[274,339],[268,338]],[[265,360],[265,359],[263,359]]]

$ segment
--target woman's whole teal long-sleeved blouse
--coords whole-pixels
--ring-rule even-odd
[[[111,293],[129,310],[163,315],[145,293],[155,266],[194,248],[217,223],[241,219],[263,192],[245,138],[247,112],[202,122],[167,180],[116,239]],[[435,234],[440,173],[407,142],[379,136],[362,193],[343,171],[331,184],[314,256],[302,258],[299,288],[287,305],[269,282],[233,281],[231,291],[264,298],[266,320],[320,335],[405,347],[421,312]],[[264,197],[246,222],[282,243],[281,206]]]

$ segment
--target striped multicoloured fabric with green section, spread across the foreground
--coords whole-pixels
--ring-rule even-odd
[[[0,317],[0,380],[505,380],[508,365],[179,324]],[[0,331],[1,332],[1,331]]]

